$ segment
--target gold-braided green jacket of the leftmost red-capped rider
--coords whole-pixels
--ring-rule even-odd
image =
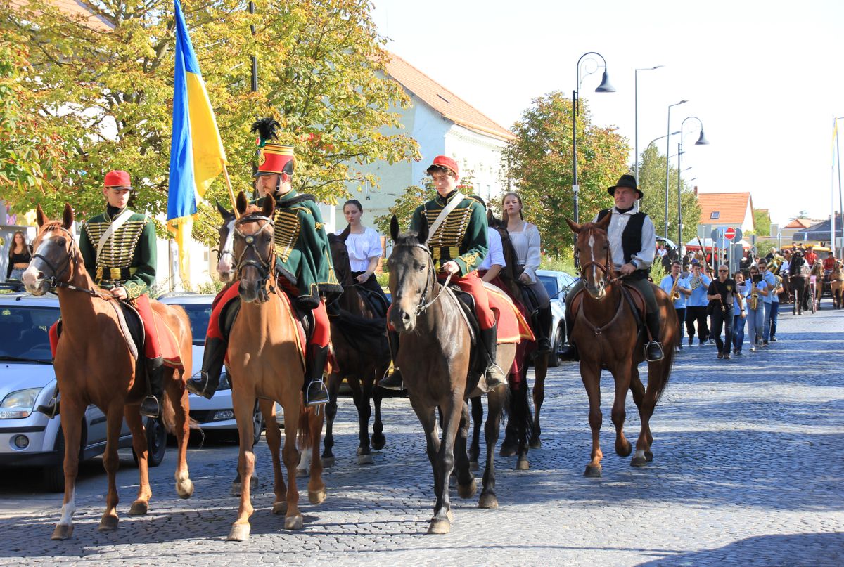
[[[148,293],[155,283],[155,224],[145,214],[133,212],[97,256],[100,237],[112,220],[106,212],[83,224],[79,251],[95,284],[103,289],[123,286],[133,300]]]

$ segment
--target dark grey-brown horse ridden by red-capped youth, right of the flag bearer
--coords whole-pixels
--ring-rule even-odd
[[[466,440],[468,405],[466,400],[476,387],[479,375],[470,380],[472,332],[457,296],[437,282],[436,268],[425,241],[428,226],[418,234],[399,235],[398,219],[390,221],[394,242],[387,260],[390,271],[392,307],[387,316],[400,333],[398,360],[410,404],[425,429],[428,459],[434,472],[436,505],[428,533],[451,530],[452,511],[448,479],[457,467],[457,494],[472,498],[477,491],[470,471]],[[510,368],[516,352],[514,344],[501,344],[497,364]],[[495,508],[495,462],[493,452],[498,440],[500,417],[506,404],[506,388],[487,393],[489,415],[484,426],[486,467],[479,507]],[[436,408],[440,408],[442,439],[436,435]]]

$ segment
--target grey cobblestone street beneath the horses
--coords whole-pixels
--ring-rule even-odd
[[[0,564],[844,564],[844,311],[783,313],[776,343],[731,360],[715,347],[686,347],[652,418],[654,460],[630,467],[613,451],[612,380],[604,373],[603,478],[584,478],[590,433],[576,365],[546,381],[542,449],[530,470],[496,457],[500,507],[452,489],[454,522],[425,535],[433,477],[421,428],[406,398],[384,401],[387,446],[375,464],[356,464],[357,419],[340,400],[337,464],[324,475],[328,498],[307,502],[305,529],[273,516],[270,456],[256,449],[252,537],[225,540],[237,500],[229,496],[237,448],[188,452],[196,490],[179,500],[175,448],[150,469],[148,516],[128,516],[138,483],[129,451],[118,474],[116,532],[98,532],[106,475],[83,468],[73,538],[52,542],[62,496],[20,471],[0,476]],[[642,380],[645,380],[643,372]],[[628,437],[638,413],[628,397]],[[32,475],[37,479],[38,475]]]

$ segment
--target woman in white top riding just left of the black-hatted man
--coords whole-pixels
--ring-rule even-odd
[[[551,352],[549,340],[551,331],[551,300],[545,286],[537,278],[536,271],[542,260],[539,230],[535,224],[525,222],[522,215],[522,197],[515,192],[505,193],[501,199],[501,207],[507,222],[507,233],[516,251],[516,273],[519,282],[533,290],[539,302],[538,309],[538,343],[537,352],[548,354]]]

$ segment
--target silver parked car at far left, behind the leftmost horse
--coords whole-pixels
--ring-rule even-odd
[[[0,294],[0,467],[38,467],[46,489],[64,489],[62,416],[48,419],[35,411],[56,392],[47,331],[59,317],[55,295]],[[146,419],[149,466],[164,459],[166,432]],[[132,446],[124,420],[120,447]],[[94,405],[85,410],[81,460],[106,451],[106,415]]]

